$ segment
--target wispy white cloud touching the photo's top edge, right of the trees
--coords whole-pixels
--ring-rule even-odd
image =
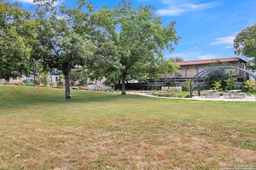
[[[185,1],[175,1],[175,0],[163,0],[163,4],[168,5],[168,8],[162,8],[157,10],[157,14],[161,16],[169,15],[181,15],[185,12],[204,10],[206,8],[212,8],[217,5],[217,3],[188,3]]]

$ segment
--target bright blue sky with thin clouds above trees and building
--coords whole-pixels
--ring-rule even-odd
[[[14,2],[10,0],[10,2]],[[33,0],[19,0],[29,10]],[[74,3],[62,0],[62,2]],[[113,7],[119,1],[91,1],[93,5]],[[176,21],[175,29],[182,38],[165,57],[181,56],[186,61],[234,57],[234,36],[256,23],[255,0],[132,0],[133,6],[154,5],[164,24]]]

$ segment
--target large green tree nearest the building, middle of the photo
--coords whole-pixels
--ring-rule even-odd
[[[154,67],[161,63],[164,50],[172,51],[173,46],[178,44],[175,22],[164,26],[151,6],[134,8],[131,3],[122,1],[113,10],[109,6],[100,8],[92,18],[103,37],[97,53],[98,58],[105,60],[101,68],[104,67],[102,70],[105,73],[120,72],[122,95],[126,94],[127,76],[146,75],[150,65]],[[175,68],[175,65],[172,67]]]

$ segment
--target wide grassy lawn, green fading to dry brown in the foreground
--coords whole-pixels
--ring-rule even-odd
[[[0,169],[256,165],[256,103],[71,95],[67,101],[62,89],[0,86]]]

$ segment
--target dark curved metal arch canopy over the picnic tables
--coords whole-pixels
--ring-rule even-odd
[[[201,71],[197,73],[191,80],[190,80],[190,98],[193,97],[193,89],[194,85],[198,85],[198,96],[200,96],[200,82],[201,80],[209,73],[217,71],[217,70],[226,70],[226,69],[236,69],[236,70],[241,70],[253,77],[256,81],[256,75],[248,70],[244,70],[238,67],[233,67],[233,66],[215,66],[215,67],[210,67],[209,69],[205,69],[204,71]],[[194,83],[192,83],[194,81]],[[256,85],[255,85],[256,86]],[[255,98],[256,98],[256,91],[255,91]]]

